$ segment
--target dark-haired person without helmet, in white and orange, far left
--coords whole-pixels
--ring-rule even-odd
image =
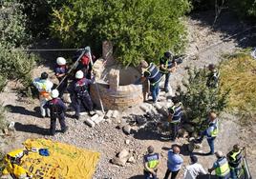
[[[44,105],[51,99],[50,92],[53,88],[53,83],[48,80],[48,73],[42,72],[40,78],[35,78],[32,82],[34,87],[39,91],[40,110],[42,117],[46,114],[50,116],[50,109],[45,109]]]

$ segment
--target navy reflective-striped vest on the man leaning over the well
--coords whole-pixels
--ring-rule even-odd
[[[150,85],[155,86],[156,84],[160,83],[160,70],[157,68],[155,64],[150,63],[149,67],[145,71],[149,73],[149,76],[147,76],[147,78],[150,82]]]

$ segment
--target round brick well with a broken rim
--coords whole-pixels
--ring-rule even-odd
[[[139,79],[139,70],[117,65],[105,66],[103,59],[96,60],[96,84],[91,86],[91,96],[100,108],[99,95],[104,109],[128,109],[143,102],[142,85],[134,85]]]

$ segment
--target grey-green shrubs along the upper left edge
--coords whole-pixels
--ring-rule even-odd
[[[0,90],[6,85],[6,79],[19,80],[27,87],[31,83],[36,57],[24,51],[11,50],[22,49],[31,40],[23,6],[15,0],[5,1],[0,6]]]

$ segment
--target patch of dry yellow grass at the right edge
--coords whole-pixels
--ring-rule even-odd
[[[256,111],[256,60],[245,53],[228,57],[221,65],[221,87],[231,89],[228,108],[254,113]]]

